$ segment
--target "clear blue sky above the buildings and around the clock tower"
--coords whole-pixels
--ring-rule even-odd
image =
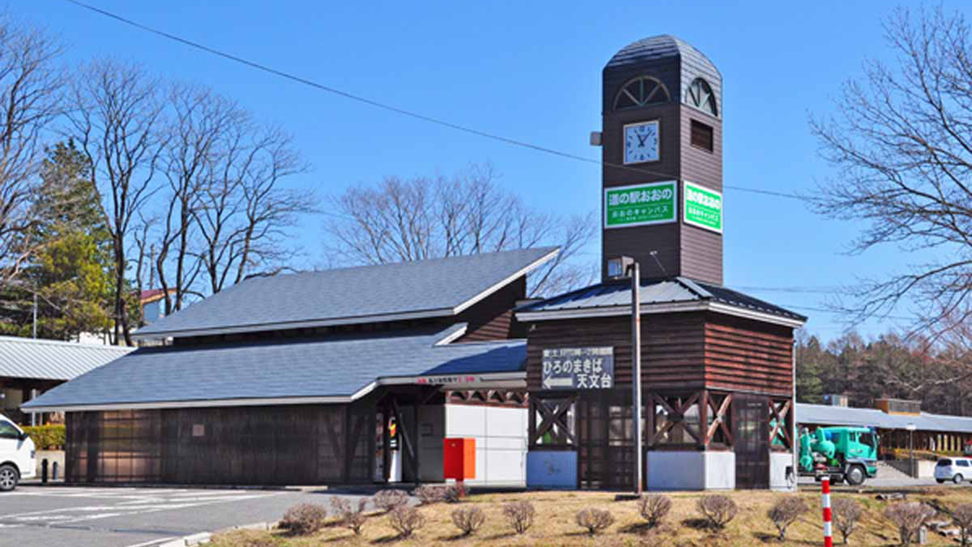
[[[598,159],[601,69],[630,42],[674,34],[712,58],[724,85],[724,183],[809,191],[829,174],[808,116],[825,115],[865,58],[885,58],[887,2],[130,2],[88,0],[121,16],[343,91],[450,122]],[[946,2],[948,9],[967,9]],[[384,175],[450,173],[489,161],[526,201],[596,211],[600,168],[540,154],[303,87],[97,16],[63,0],[10,4],[68,45],[67,59],[111,55],[208,85],[295,134],[313,169],[295,186],[339,193]],[[844,254],[861,225],[801,202],[727,190],[725,281],[843,330],[825,292],[900,270],[895,248]],[[302,227],[319,253],[321,219]],[[587,256],[596,261],[600,241]],[[788,289],[799,287],[801,291]],[[778,290],[766,290],[775,288]],[[908,310],[896,314],[908,315]],[[876,334],[890,327],[860,327]]]

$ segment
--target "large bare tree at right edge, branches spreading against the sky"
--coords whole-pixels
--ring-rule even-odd
[[[834,116],[812,120],[832,180],[812,197],[837,219],[864,219],[852,245],[896,245],[920,264],[863,281],[841,306],[856,320],[898,305],[913,325],[967,322],[972,310],[972,39],[959,14],[899,9],[885,21],[892,64],[871,60],[844,86]],[[925,258],[927,257],[927,258]],[[918,262],[918,261],[916,261]]]

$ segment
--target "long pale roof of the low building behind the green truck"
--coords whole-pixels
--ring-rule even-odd
[[[920,431],[972,432],[972,418],[921,413],[920,416],[886,414],[878,409],[835,407],[797,403],[797,423],[815,425],[859,425],[881,429],[906,429],[914,424]]]

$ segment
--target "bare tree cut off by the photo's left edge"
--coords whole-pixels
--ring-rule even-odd
[[[39,30],[0,16],[0,284],[17,276],[37,250],[32,237],[43,211],[43,132],[62,112],[66,84],[61,47]]]

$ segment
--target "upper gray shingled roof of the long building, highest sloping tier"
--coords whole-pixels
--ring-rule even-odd
[[[246,279],[139,329],[136,338],[451,316],[557,253],[538,247]]]

